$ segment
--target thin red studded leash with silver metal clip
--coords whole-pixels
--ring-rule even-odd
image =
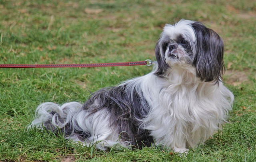
[[[151,66],[155,62],[151,60],[137,62],[115,62],[96,64],[0,64],[0,68],[74,68],[74,67],[106,67],[106,66]]]

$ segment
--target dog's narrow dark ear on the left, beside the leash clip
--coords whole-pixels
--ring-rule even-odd
[[[158,63],[158,68],[155,74],[160,77],[164,76],[164,73],[169,67],[165,61],[165,56],[164,56],[166,49],[167,49],[167,45],[165,42],[162,41],[162,37],[160,37],[159,40],[156,42],[156,47],[155,47],[156,61]]]

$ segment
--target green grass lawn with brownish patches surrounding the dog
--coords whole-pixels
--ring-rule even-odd
[[[0,0],[0,63],[154,60],[162,27],[181,18],[204,22],[225,42],[224,82],[235,103],[229,123],[206,144],[186,157],[159,148],[102,152],[26,129],[41,102],[84,102],[90,92],[152,67],[2,68],[0,161],[256,161],[256,2]]]

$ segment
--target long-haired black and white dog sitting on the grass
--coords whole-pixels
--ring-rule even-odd
[[[186,152],[212,136],[232,108],[234,96],[221,81],[223,52],[220,36],[202,23],[167,24],[152,72],[99,90],[83,105],[42,103],[31,126],[99,149],[154,144]]]

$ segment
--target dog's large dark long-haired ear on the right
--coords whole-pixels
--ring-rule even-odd
[[[196,54],[193,61],[196,75],[205,82],[218,82],[225,70],[223,41],[215,31],[202,23],[195,22],[192,27],[196,35]]]

